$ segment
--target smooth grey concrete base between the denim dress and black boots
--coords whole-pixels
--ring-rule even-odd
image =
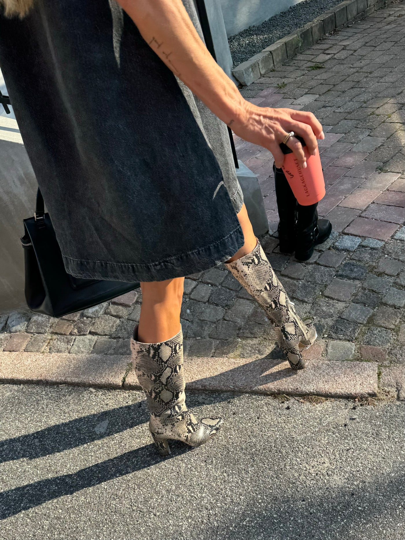
[[[238,163],[237,177],[244,194],[244,203],[253,232],[256,236],[266,234],[268,232],[268,220],[259,179],[242,161],[238,160]]]

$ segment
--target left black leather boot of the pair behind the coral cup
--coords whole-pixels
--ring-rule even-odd
[[[273,164],[275,194],[279,211],[279,242],[281,253],[293,253],[296,244],[297,201],[281,168]]]

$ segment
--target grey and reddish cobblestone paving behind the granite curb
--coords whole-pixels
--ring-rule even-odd
[[[271,154],[236,138],[265,197],[270,234],[262,245],[298,312],[318,329],[313,357],[405,363],[404,15],[403,3],[380,10],[242,90],[260,106],[311,110],[326,132],[319,213],[334,231],[307,264],[278,251]],[[60,320],[0,316],[0,346],[129,354],[140,300],[134,291]],[[223,266],[185,280],[181,317],[188,355],[278,354],[264,313]]]

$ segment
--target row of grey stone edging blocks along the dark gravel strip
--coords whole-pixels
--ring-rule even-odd
[[[393,0],[347,0],[342,2],[316,17],[311,23],[269,45],[246,62],[242,62],[232,70],[232,74],[241,85],[248,86],[272,69],[279,68],[299,52],[309,49],[333,30],[340,30],[348,24],[360,21],[392,2]]]

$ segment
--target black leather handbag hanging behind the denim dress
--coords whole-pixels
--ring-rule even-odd
[[[24,233],[25,300],[36,313],[62,317],[139,287],[137,282],[81,279],[68,274],[39,189],[34,217],[24,219]]]

